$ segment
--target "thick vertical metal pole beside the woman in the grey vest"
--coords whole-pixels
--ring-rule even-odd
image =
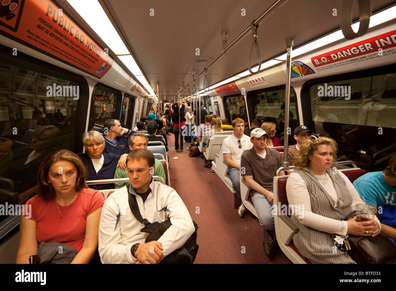
[[[289,107],[290,107],[290,76],[291,76],[291,51],[293,49],[294,37],[286,38],[287,59],[286,59],[286,96],[285,96],[285,128],[284,128],[284,150],[283,150],[283,167],[289,170],[289,162],[287,155],[289,153],[289,135],[287,129],[289,127]]]

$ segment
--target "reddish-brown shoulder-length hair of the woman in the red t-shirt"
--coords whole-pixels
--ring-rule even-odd
[[[70,152],[70,150],[58,150],[56,152],[51,152],[51,154],[46,156],[44,161],[41,162],[40,168],[38,169],[38,196],[42,197],[44,200],[48,200],[53,197],[53,195],[55,195],[55,189],[53,188],[51,183],[48,183],[48,175],[51,165],[59,161],[67,161],[76,166],[77,179],[76,184],[74,185],[74,190],[76,192],[79,192],[80,190],[82,190],[82,188],[88,188],[85,181],[85,166],[80,158],[76,154],[74,154],[74,152]]]

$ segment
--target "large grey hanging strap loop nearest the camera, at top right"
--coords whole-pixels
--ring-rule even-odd
[[[344,0],[342,6],[341,13],[341,30],[345,36],[345,38],[353,39],[358,36],[362,36],[367,32],[370,24],[371,17],[371,1],[370,0],[359,0],[359,30],[358,32],[354,32],[351,23],[352,23],[352,7],[353,0]]]

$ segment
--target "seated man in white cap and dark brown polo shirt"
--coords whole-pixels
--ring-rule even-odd
[[[263,249],[271,260],[276,246],[273,180],[276,170],[282,167],[282,156],[277,150],[266,146],[268,134],[263,129],[253,129],[250,137],[253,147],[242,154],[241,175],[253,189],[251,200],[264,228]],[[285,175],[284,171],[280,171],[280,175]]]

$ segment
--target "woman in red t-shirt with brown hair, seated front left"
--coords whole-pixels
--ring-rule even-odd
[[[49,154],[38,171],[38,194],[25,204],[21,217],[17,264],[28,264],[42,242],[74,247],[72,264],[87,264],[97,250],[104,198],[89,189],[80,158],[69,150]]]

